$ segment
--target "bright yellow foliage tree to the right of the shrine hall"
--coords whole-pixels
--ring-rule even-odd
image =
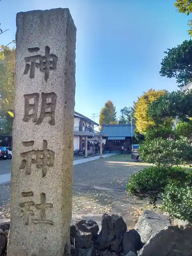
[[[155,125],[154,121],[149,117],[148,108],[151,102],[167,94],[166,90],[150,89],[134,102],[135,125],[138,133],[145,135],[146,129],[151,125]]]

